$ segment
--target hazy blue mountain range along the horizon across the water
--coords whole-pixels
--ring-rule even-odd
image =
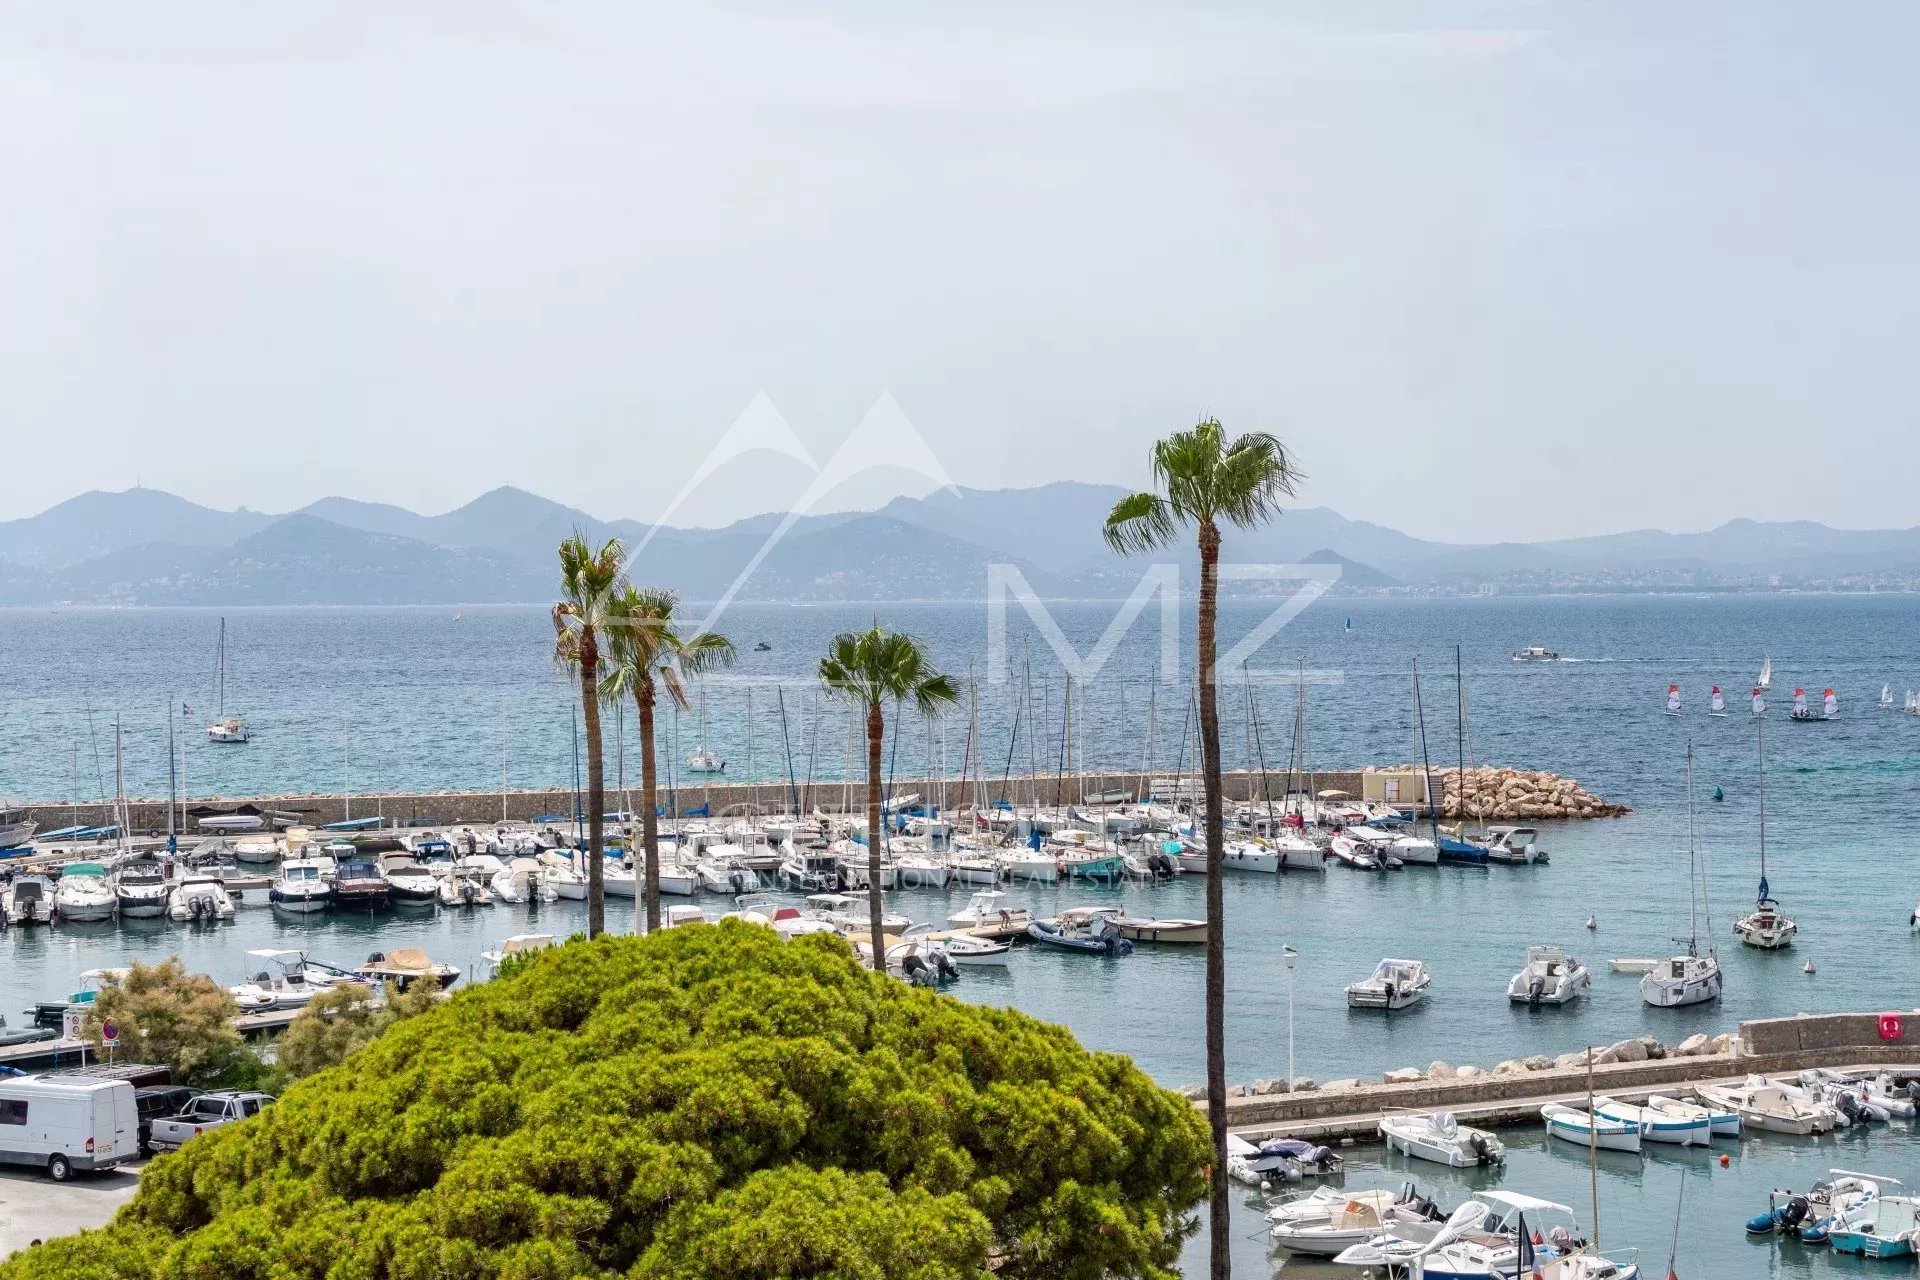
[[[1121,489],[941,489],[879,510],[780,514],[718,530],[601,520],[499,487],[434,516],[324,497],[300,510],[215,510],[159,489],[92,491],[0,522],[0,604],[444,604],[553,595],[553,549],[572,530],[641,547],[632,574],[687,599],[868,601],[977,597],[987,566],[1012,564],[1046,597],[1116,597],[1140,560],[1106,549],[1100,524]],[[760,557],[755,564],[755,557]],[[1183,581],[1196,562],[1183,543]],[[1340,566],[1336,591],[1620,591],[1912,587],[1920,528],[1836,530],[1732,520],[1703,533],[1636,530],[1544,543],[1453,545],[1302,507],[1233,532],[1227,558]],[[1292,591],[1233,583],[1231,593]]]

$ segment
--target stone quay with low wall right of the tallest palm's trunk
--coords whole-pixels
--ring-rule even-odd
[[[1920,1077],[1920,1009],[1899,1015],[1899,1034],[1882,1034],[1884,1013],[1799,1013],[1740,1025],[1724,1054],[1668,1055],[1645,1061],[1599,1061],[1607,1046],[1594,1046],[1594,1094],[1644,1098],[1674,1086],[1743,1080],[1749,1075],[1797,1075],[1811,1067],[1828,1071],[1887,1071],[1897,1079]],[[1373,1142],[1380,1117],[1392,1111],[1452,1111],[1461,1121],[1524,1125],[1540,1121],[1549,1102],[1584,1102],[1586,1065],[1500,1071],[1471,1079],[1442,1077],[1388,1084],[1340,1080],[1319,1088],[1227,1098],[1227,1126],[1248,1140],[1311,1138],[1315,1142]],[[1388,1073],[1400,1075],[1400,1073]],[[1204,1107],[1202,1100],[1194,1105]]]

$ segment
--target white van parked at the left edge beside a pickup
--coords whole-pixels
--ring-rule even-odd
[[[127,1080],[0,1079],[0,1163],[38,1165],[56,1182],[138,1157],[140,1113]]]

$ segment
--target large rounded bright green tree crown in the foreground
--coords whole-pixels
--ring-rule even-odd
[[[0,1280],[1158,1280],[1206,1161],[1125,1057],[726,921],[534,954]]]

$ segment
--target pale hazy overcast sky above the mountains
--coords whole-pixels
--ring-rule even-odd
[[[970,486],[1139,482],[1206,411],[1428,537],[1920,524],[1916,38],[1903,0],[0,0],[0,518],[134,480],[651,518],[756,395],[824,461],[891,393]],[[810,480],[735,462],[678,520]]]

